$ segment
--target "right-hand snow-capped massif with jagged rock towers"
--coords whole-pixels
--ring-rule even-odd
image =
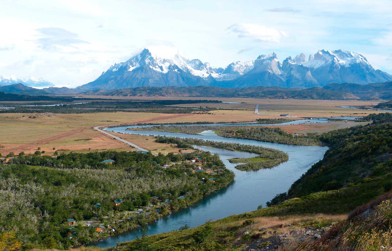
[[[375,70],[367,59],[356,52],[320,50],[309,56],[301,53],[294,59],[286,58],[280,64],[276,53],[259,56],[254,69],[240,76],[227,87],[278,86],[309,88],[330,83],[376,83],[391,81],[392,76]]]

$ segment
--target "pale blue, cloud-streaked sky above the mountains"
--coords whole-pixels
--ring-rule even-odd
[[[93,81],[149,47],[225,68],[343,49],[392,74],[391,0],[1,0],[0,75]]]

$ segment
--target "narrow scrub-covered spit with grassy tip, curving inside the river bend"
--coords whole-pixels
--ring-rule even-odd
[[[180,148],[191,148],[191,144],[211,146],[216,148],[222,148],[230,151],[244,151],[260,154],[257,161],[247,161],[247,159],[232,159],[232,162],[243,163],[236,166],[238,170],[250,171],[258,170],[260,168],[267,168],[276,166],[277,164],[287,161],[289,155],[287,153],[273,149],[266,148],[262,146],[252,146],[237,143],[224,143],[216,141],[205,141],[203,139],[191,139],[191,138],[174,138],[174,137],[157,137],[156,142],[167,143],[167,144],[177,144]],[[243,160],[243,161],[241,161]]]

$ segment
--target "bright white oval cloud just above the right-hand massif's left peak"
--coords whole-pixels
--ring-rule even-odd
[[[279,43],[281,38],[287,37],[284,31],[252,23],[237,23],[228,27],[227,30],[238,34],[239,38],[252,38],[262,42]]]

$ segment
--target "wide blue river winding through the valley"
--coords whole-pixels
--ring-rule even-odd
[[[309,121],[309,120],[306,120]],[[209,124],[211,126],[211,124]],[[218,124],[222,125],[222,124]],[[305,173],[312,164],[323,158],[328,147],[321,146],[296,146],[278,143],[267,143],[249,139],[225,138],[216,135],[212,131],[202,132],[200,135],[154,132],[154,131],[130,131],[126,128],[137,126],[123,126],[106,128],[110,132],[120,132],[126,134],[139,135],[166,135],[174,137],[191,137],[205,140],[233,142],[240,144],[250,144],[264,146],[282,150],[289,154],[289,160],[273,168],[260,169],[257,171],[240,171],[234,168],[237,164],[230,163],[227,159],[240,157],[247,158],[256,156],[254,153],[229,151],[208,146],[196,146],[200,150],[209,151],[212,154],[218,153],[226,167],[232,170],[236,177],[227,188],[208,195],[196,202],[194,205],[161,217],[156,222],[148,224],[147,234],[154,235],[179,229],[188,224],[191,228],[200,226],[208,220],[218,220],[233,214],[254,211],[259,205],[271,200],[276,194],[289,190],[291,184]],[[140,126],[139,126],[140,127]],[[91,246],[108,248],[116,246],[117,242],[134,240],[141,236],[141,228],[105,238],[90,244]]]

